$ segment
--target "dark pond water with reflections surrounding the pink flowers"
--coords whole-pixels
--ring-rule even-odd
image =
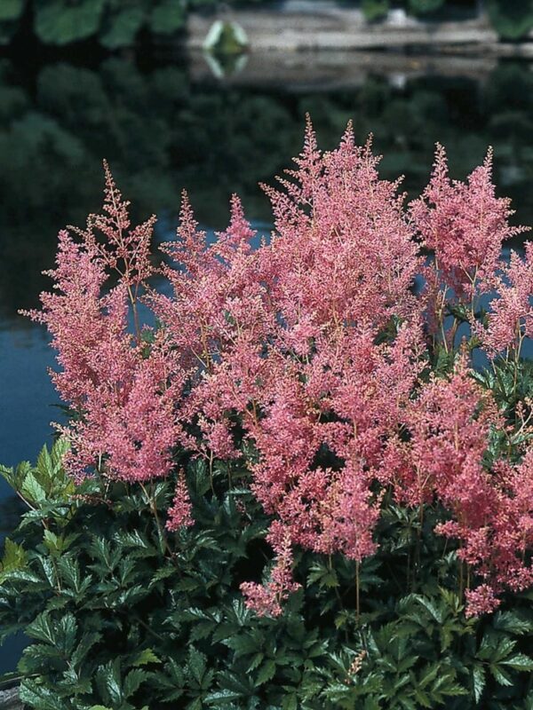
[[[348,119],[361,141],[372,131],[385,154],[384,176],[405,174],[410,197],[426,184],[436,140],[461,178],[492,144],[500,193],[513,197],[518,222],[533,223],[528,64],[391,55],[359,64],[348,57],[335,67],[330,55],[322,64],[313,60],[311,72],[292,66],[293,59],[282,62],[288,71],[251,60],[220,79],[212,72],[221,67],[210,69],[202,58],[187,65],[0,57],[0,461],[35,460],[51,440],[49,422],[58,412],[46,368],[53,353],[42,330],[17,310],[35,307],[46,288],[41,271],[53,264],[58,230],[83,225],[99,209],[104,157],[134,216],[162,217],[159,237],[174,228],[184,187],[213,229],[226,226],[233,192],[249,218],[265,221],[268,202],[258,182],[298,153],[308,111],[326,148]],[[0,499],[6,532],[18,508],[3,484]],[[0,654],[0,671],[13,667],[15,646]]]

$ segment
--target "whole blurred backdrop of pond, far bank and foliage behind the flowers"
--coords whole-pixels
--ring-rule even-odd
[[[323,148],[349,119],[382,174],[426,185],[495,148],[501,194],[533,223],[529,0],[0,0],[0,461],[35,460],[60,417],[44,332],[20,317],[48,287],[57,233],[99,209],[107,158],[133,216],[171,236],[186,187],[207,229],[239,193],[268,230],[272,181],[309,112]],[[20,509],[0,487],[0,526]],[[3,654],[3,655],[2,655]],[[14,667],[16,644],[0,650]]]

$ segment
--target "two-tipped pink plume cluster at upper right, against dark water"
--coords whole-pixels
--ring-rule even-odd
[[[446,153],[437,145],[431,180],[411,202],[410,214],[424,246],[434,252],[438,280],[467,301],[477,288],[495,285],[503,242],[524,231],[508,224],[510,201],[496,197],[490,149],[461,182],[449,179]]]

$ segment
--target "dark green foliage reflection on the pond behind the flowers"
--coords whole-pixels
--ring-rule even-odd
[[[385,177],[406,174],[415,196],[426,184],[434,141],[447,146],[454,177],[479,163],[489,144],[497,181],[530,203],[533,173],[533,75],[502,64],[486,82],[427,76],[397,87],[370,76],[356,89],[324,93],[197,84],[177,65],[142,71],[126,59],[94,69],[58,63],[21,75],[0,61],[0,308],[35,305],[56,235],[97,209],[107,157],[139,217],[173,219],[185,187],[204,224],[222,228],[239,193],[248,215],[268,218],[260,180],[298,153],[309,111],[322,145],[332,147],[348,119],[385,153]],[[83,176],[83,179],[80,179]],[[531,216],[521,210],[519,221]]]

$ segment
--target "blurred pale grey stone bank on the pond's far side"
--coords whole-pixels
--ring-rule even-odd
[[[393,10],[384,20],[369,22],[361,10],[314,0],[274,8],[192,12],[187,20],[189,50],[202,49],[216,20],[235,22],[243,28],[254,52],[416,47],[533,58],[533,37],[521,43],[499,41],[484,12],[464,20],[437,21],[418,20],[402,10]]]

